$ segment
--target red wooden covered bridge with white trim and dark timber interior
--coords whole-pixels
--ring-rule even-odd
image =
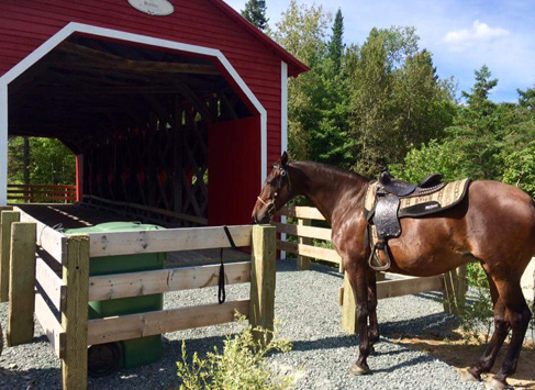
[[[78,201],[166,225],[247,223],[306,67],[221,0],[2,0],[8,136],[60,140]]]

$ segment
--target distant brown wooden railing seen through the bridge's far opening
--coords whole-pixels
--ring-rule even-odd
[[[76,202],[76,186],[8,185],[8,201],[24,203]]]

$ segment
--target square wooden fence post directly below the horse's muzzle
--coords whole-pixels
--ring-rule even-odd
[[[253,327],[261,326],[269,331],[274,330],[275,317],[276,241],[275,226],[253,226],[249,323]],[[257,332],[254,336],[261,339]],[[267,342],[270,339],[268,337]]]

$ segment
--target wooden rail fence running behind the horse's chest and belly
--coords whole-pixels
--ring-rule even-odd
[[[325,221],[320,211],[308,207],[286,207],[278,215],[297,220],[297,223],[275,222],[277,232],[281,238],[277,239],[277,249],[297,255],[298,269],[310,269],[311,259],[317,259],[337,265],[343,272],[342,258],[336,250],[328,245],[314,245],[314,239],[321,243],[331,243],[331,229],[312,225],[312,221]],[[288,242],[283,235],[297,237],[297,243]],[[377,298],[394,298],[424,293],[431,291],[444,292],[444,310],[458,314],[464,307],[468,282],[466,266],[450,272],[433,277],[401,277],[393,280],[384,280],[384,274],[377,275]],[[338,302],[343,307],[342,327],[348,333],[357,332],[356,304],[353,291],[344,272],[344,285],[339,289]]]

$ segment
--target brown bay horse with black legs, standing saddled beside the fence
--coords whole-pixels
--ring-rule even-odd
[[[367,264],[363,200],[368,180],[360,175],[317,163],[288,161],[282,154],[268,175],[253,210],[256,223],[269,223],[277,210],[303,196],[332,227],[332,242],[343,259],[355,300],[359,325],[359,355],[349,369],[369,372],[367,358],[379,339],[375,271]],[[532,317],[520,279],[535,253],[535,204],[522,190],[498,181],[473,181],[468,196],[453,209],[432,218],[401,220],[402,234],[391,238],[389,271],[434,276],[470,261],[480,261],[494,304],[494,333],[479,361],[462,372],[464,380],[480,380],[492,368],[508,333],[512,338],[500,371],[488,387],[503,389],[515,372]]]

